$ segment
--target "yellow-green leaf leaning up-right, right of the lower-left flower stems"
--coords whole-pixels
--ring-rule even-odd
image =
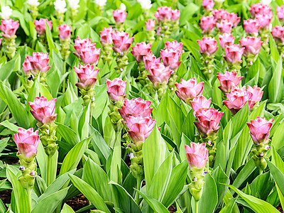
[[[77,143],[65,156],[59,175],[63,175],[70,170],[77,168],[84,152],[86,151],[89,141],[91,140],[92,136],[89,138],[84,139],[80,143]]]

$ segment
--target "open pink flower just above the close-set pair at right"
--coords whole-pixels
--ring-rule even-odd
[[[234,87],[238,87],[239,82],[242,80],[243,76],[236,77],[237,74],[237,72],[233,71],[226,71],[225,74],[218,72],[217,78],[221,84],[221,86],[219,86],[219,89],[221,89],[222,92],[230,92]]]

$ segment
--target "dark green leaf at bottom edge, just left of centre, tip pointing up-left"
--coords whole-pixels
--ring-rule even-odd
[[[124,187],[121,187],[121,185],[113,181],[109,182],[109,184],[112,186],[112,190],[114,191],[115,207],[123,209],[124,212],[141,212],[138,205],[133,200],[133,197],[129,195],[129,193],[124,189]]]

